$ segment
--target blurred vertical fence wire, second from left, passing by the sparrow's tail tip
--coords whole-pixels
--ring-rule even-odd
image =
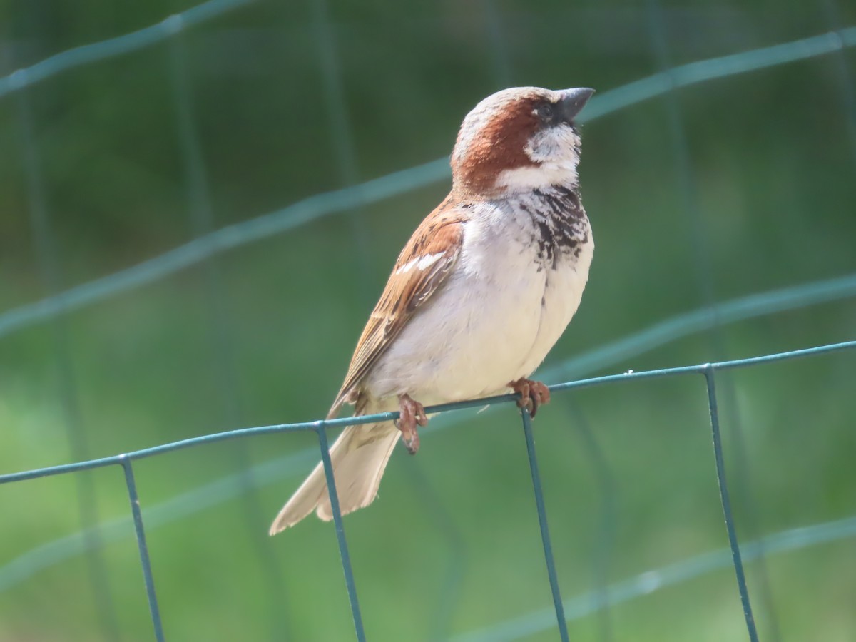
[[[177,17],[177,16],[174,16]],[[191,77],[187,69],[187,43],[184,33],[176,29],[169,39],[169,80],[171,82],[175,109],[176,128],[184,163],[187,202],[191,229],[197,239],[211,239],[214,229],[214,212],[211,205],[211,188],[205,169],[205,158],[195,125]],[[243,415],[239,396],[238,377],[235,371],[235,346],[231,331],[229,306],[224,300],[221,259],[210,253],[203,262],[205,318],[209,324],[212,370],[217,376],[217,395],[223,401],[223,412],[227,425],[241,425]],[[229,448],[240,472],[241,508],[247,517],[247,531],[253,542],[253,554],[259,563],[259,571],[267,585],[265,599],[270,618],[271,639],[288,638],[289,621],[286,606],[285,584],[280,565],[265,530],[259,524],[265,522],[265,510],[259,490],[253,479],[249,444],[239,440]]]

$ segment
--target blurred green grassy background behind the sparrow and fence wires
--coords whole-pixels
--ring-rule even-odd
[[[4,3],[0,74],[191,6]],[[248,4],[0,97],[0,310],[448,155],[467,110],[503,86],[603,95],[853,25],[856,7],[835,0]],[[856,338],[851,295],[568,366],[713,302],[853,276],[854,81],[849,49],[586,125],[597,252],[548,383]],[[188,133],[198,162],[182,152]],[[40,180],[29,192],[27,158]],[[0,473],[323,416],[402,243],[448,187],[348,208],[0,336]],[[856,514],[856,353],[717,383],[741,541]],[[727,546],[707,413],[696,376],[556,394],[539,414],[564,597]],[[433,425],[345,520],[368,639],[452,639],[550,612],[514,407]],[[332,526],[266,535],[317,456],[311,434],[278,434],[135,465],[167,639],[353,639]],[[80,492],[94,500],[83,519],[104,524],[89,554]],[[0,486],[0,640],[152,639],[128,512],[116,467]],[[852,538],[746,570],[761,639],[856,637]],[[519,639],[556,639],[547,621]],[[569,627],[585,640],[746,638],[728,565]]]

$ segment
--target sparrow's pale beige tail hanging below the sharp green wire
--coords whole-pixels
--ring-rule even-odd
[[[398,437],[399,431],[391,421],[349,425],[330,446],[330,461],[342,514],[365,508],[374,501]],[[288,526],[294,526],[312,511],[324,521],[333,519],[323,462],[318,463],[276,515],[270,534],[276,535]]]

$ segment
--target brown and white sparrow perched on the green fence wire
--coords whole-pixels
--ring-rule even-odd
[[[425,406],[516,393],[532,416],[550,401],[529,377],[580,305],[594,251],[580,198],[580,125],[594,93],[511,87],[461,123],[449,195],[401,250],[327,419],[399,411],[350,425],[330,447],[341,514],[377,496],[395,444],[419,449]],[[522,411],[521,411],[522,412]],[[323,462],[270,535],[333,511]]]

